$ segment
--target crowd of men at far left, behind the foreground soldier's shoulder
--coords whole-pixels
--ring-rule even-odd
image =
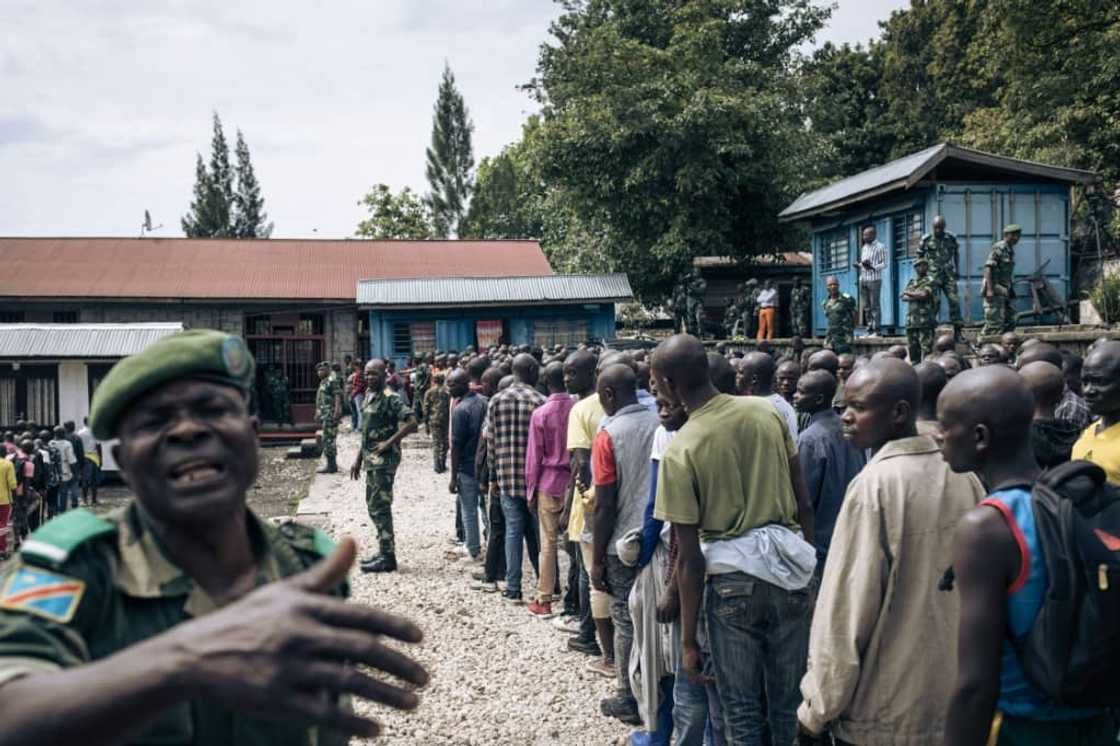
[[[101,445],[73,421],[16,422],[0,458],[0,557],[8,557],[44,521],[97,503]]]

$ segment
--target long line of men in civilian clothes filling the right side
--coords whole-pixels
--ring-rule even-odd
[[[528,614],[614,679],[600,709],[635,744],[1114,743],[1009,635],[1045,593],[1011,517],[1029,484],[1071,458],[1120,484],[1120,342],[1082,361],[1008,334],[976,370],[934,347],[440,355],[454,551],[521,605],[528,550]],[[1010,575],[982,585],[984,552]]]

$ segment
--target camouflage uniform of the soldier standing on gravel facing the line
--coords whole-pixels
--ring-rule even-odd
[[[393,446],[381,456],[373,448],[389,440],[416,416],[404,400],[388,386],[380,392],[366,392],[362,405],[362,464],[365,467],[365,506],[377,529],[381,554],[395,557],[393,541],[393,479],[401,463],[401,446]]]

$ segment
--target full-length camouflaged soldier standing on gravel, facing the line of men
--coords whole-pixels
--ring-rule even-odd
[[[351,467],[357,479],[365,467],[365,505],[377,529],[379,553],[362,560],[363,572],[396,570],[393,537],[393,481],[401,464],[401,440],[416,432],[417,418],[400,394],[385,385],[385,361],[365,364],[365,403],[362,405],[362,445]]]

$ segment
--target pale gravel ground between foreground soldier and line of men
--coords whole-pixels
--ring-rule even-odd
[[[411,652],[432,674],[420,707],[409,714],[360,703],[383,725],[363,744],[624,744],[628,726],[599,714],[614,680],[586,670],[591,659],[569,652],[568,635],[531,618],[496,594],[470,589],[470,567],[448,554],[455,503],[446,475],[431,470],[427,439],[413,436],[393,493],[400,571],[351,576],[353,598],[412,618],[424,641]],[[339,435],[339,466],[353,463],[354,433]],[[376,551],[363,482],[317,476],[310,494],[329,501],[330,530],[353,535],[361,556]],[[561,552],[563,557],[563,552]],[[525,597],[534,581],[525,562]],[[561,576],[563,577],[563,576]]]

